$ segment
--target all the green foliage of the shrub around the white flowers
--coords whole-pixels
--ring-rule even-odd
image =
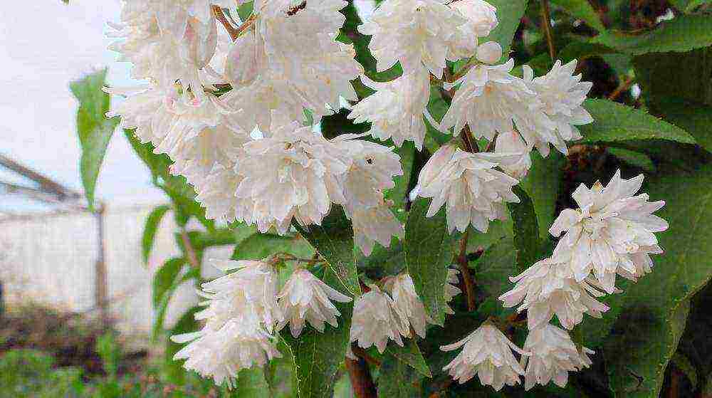
[[[154,148],[139,142],[132,132],[125,132],[150,170],[153,184],[167,194],[169,201],[147,219],[143,256],[147,259],[150,255],[157,226],[168,212],[177,221],[175,236],[182,250],[155,275],[157,337],[197,328],[194,308],[172,330],[163,330],[167,303],[181,283],[197,286],[202,282],[206,248],[231,245],[235,259],[256,260],[288,253],[323,260],[322,265],[311,268],[315,274],[354,297],[362,293],[360,282],[367,284],[407,270],[436,325],[424,340],[409,339],[405,347],[391,343],[382,355],[374,350],[365,353],[371,359],[368,368],[383,397],[652,398],[661,392],[669,397],[708,392],[712,386],[712,347],[708,339],[712,322],[706,310],[712,298],[708,284],[712,277],[712,236],[707,228],[712,222],[709,3],[671,1],[674,19],[659,22],[667,6],[657,10],[654,5],[659,2],[655,1],[552,0],[551,19],[555,23],[551,42],[543,34],[540,1],[491,3],[498,8],[500,23],[488,39],[501,43],[504,58],[511,56],[519,66],[529,64],[538,72],[545,72],[554,61],[549,56],[551,46],[562,61],[579,60],[577,70],[582,73],[582,80],[594,83],[592,98],[585,102],[585,108],[595,123],[580,126],[583,139],[570,145],[567,155],[553,152],[543,157],[533,152],[533,167],[516,189],[520,203],[509,206],[509,219],[491,223],[486,233],[469,229],[466,234],[449,234],[444,209],[426,217],[430,201],[409,200],[408,192],[414,188],[426,159],[450,138],[431,125],[425,150],[417,151],[412,145],[399,148],[405,173],[387,192],[387,199],[394,201],[397,216],[405,224],[404,239],[394,240],[388,248],[376,245],[371,256],[363,256],[354,247],[351,222],[339,206],[333,206],[322,225],[295,225],[286,236],[259,234],[253,227],[241,224],[216,225],[206,219],[204,210],[194,201],[192,187],[182,177],[169,173],[170,160],[155,155]],[[649,7],[641,9],[639,4]],[[367,75],[375,80],[399,75],[399,66],[375,72],[375,59],[367,48],[370,37],[356,30],[360,23],[356,7],[350,3],[342,13],[346,22],[339,40],[355,44],[356,59]],[[449,73],[456,74],[465,65],[466,62],[451,64]],[[115,121],[97,116],[108,107],[108,98],[98,93],[101,85],[103,74],[73,85],[82,104],[78,133],[83,147],[83,181],[90,202],[111,136],[109,130],[115,126]],[[360,97],[371,93],[358,81],[354,85]],[[640,95],[631,87],[639,89]],[[431,114],[440,120],[448,106],[445,90],[433,84],[428,105]],[[345,117],[348,112],[340,110],[325,117],[320,125],[325,135],[367,128],[351,123]],[[567,389],[537,387],[524,393],[506,387],[496,393],[481,387],[476,380],[463,386],[449,383],[441,368],[454,353],[441,352],[439,345],[460,339],[483,320],[496,320],[504,325],[515,344],[523,345],[523,315],[502,308],[498,296],[511,288],[510,276],[551,253],[555,239],[548,229],[562,209],[572,206],[570,195],[577,185],[607,182],[616,169],[621,169],[626,178],[646,173],[644,191],[651,199],[667,201],[661,216],[669,221],[670,229],[659,236],[666,253],[654,257],[652,273],[637,283],[621,281],[619,286],[624,293],[604,298],[610,310],[603,319],[587,318],[572,333],[577,342],[597,351],[597,365],[570,375]],[[189,223],[190,220],[197,223]],[[454,314],[446,315],[444,285],[448,268],[454,263],[464,263],[472,274],[478,308],[468,310],[466,298],[459,295],[449,304]],[[281,266],[283,283],[290,266]],[[462,283],[460,287],[465,290]],[[330,397],[347,391],[350,384],[343,360],[349,347],[351,308],[352,303],[340,305],[338,327],[327,326],[324,333],[305,328],[304,334],[294,339],[283,332],[279,348],[285,357],[264,369],[242,371],[234,396]],[[177,349],[177,345],[167,342],[167,357]],[[17,359],[6,358],[10,360]],[[32,362],[32,366],[48,371],[51,366],[42,361]],[[188,390],[194,376],[187,376],[179,365],[167,360],[162,370],[167,379]],[[671,382],[673,379],[676,382]],[[680,379],[686,382],[681,383]]]

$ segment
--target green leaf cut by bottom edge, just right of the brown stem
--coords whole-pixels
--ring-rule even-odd
[[[423,364],[425,363],[424,361]],[[423,375],[416,372],[408,362],[386,352],[381,362],[381,367],[379,367],[378,397],[419,397],[421,395],[420,382],[422,379]]]

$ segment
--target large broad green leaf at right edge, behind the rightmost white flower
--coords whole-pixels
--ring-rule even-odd
[[[652,273],[637,283],[617,283],[624,293],[609,296],[619,320],[604,345],[611,387],[624,397],[657,397],[664,370],[675,352],[689,310],[689,298],[712,278],[712,165],[692,174],[651,179],[651,200],[665,199],[658,212],[670,228],[659,233],[666,253],[654,256]],[[595,328],[609,329],[609,313]],[[594,327],[594,326],[592,326]],[[586,332],[587,329],[584,329]],[[588,336],[585,334],[585,341]]]

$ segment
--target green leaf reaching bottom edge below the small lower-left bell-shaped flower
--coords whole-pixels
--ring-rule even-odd
[[[350,293],[347,286],[327,268],[323,281],[342,293]],[[341,313],[338,328],[325,325],[324,332],[307,326],[298,338],[292,337],[289,328],[281,332],[288,354],[293,360],[296,397],[330,398],[337,380],[337,371],[346,357],[351,328],[352,303],[334,303]],[[287,352],[286,352],[287,353]]]

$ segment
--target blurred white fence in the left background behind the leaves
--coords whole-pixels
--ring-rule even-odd
[[[107,297],[117,328],[131,337],[147,337],[154,314],[153,274],[180,252],[175,224],[166,214],[159,227],[150,261],[141,256],[141,235],[152,207],[106,209],[104,244]],[[87,311],[96,303],[97,220],[93,214],[33,216],[0,222],[0,281],[4,300],[41,303],[59,310]],[[229,256],[231,248],[216,248],[204,258]],[[207,268],[207,267],[204,267]],[[167,325],[197,302],[192,286],[182,286],[169,305]]]

